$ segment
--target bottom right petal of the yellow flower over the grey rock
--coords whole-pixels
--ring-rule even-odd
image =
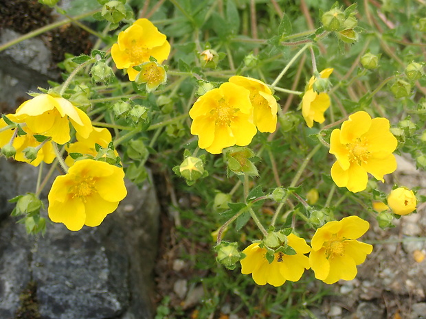
[[[106,215],[117,209],[119,202],[104,200],[98,193],[92,193],[85,198],[86,220],[85,225],[90,227],[99,226]]]

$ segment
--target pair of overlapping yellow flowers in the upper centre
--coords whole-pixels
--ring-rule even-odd
[[[212,154],[223,148],[249,145],[257,130],[276,130],[278,104],[263,82],[233,76],[229,82],[208,91],[190,109],[191,134],[199,147]]]

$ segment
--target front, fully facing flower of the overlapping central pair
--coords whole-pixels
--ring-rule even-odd
[[[190,110],[191,134],[199,147],[219,154],[225,147],[245,146],[256,134],[250,92],[234,83],[223,83],[197,99]]]

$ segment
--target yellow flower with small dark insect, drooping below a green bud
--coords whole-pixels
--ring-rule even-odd
[[[310,247],[303,238],[294,234],[287,236],[287,244],[296,252],[295,255],[284,255],[282,252],[275,254],[272,263],[267,261],[266,248],[260,248],[258,243],[251,244],[243,253],[246,255],[241,263],[241,273],[251,274],[258,285],[269,283],[275,287],[285,281],[298,281],[305,269],[309,269],[307,254]]]

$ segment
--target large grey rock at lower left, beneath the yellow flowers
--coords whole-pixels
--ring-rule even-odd
[[[1,176],[0,193],[32,191],[36,168],[4,158],[0,167],[13,177],[5,182]],[[32,237],[16,218],[3,218],[0,318],[14,318],[31,281],[43,319],[153,318],[159,205],[152,186],[137,189],[128,183],[127,188],[117,211],[96,228],[71,232],[63,224],[49,224],[44,237]],[[10,204],[1,204],[8,215]]]

